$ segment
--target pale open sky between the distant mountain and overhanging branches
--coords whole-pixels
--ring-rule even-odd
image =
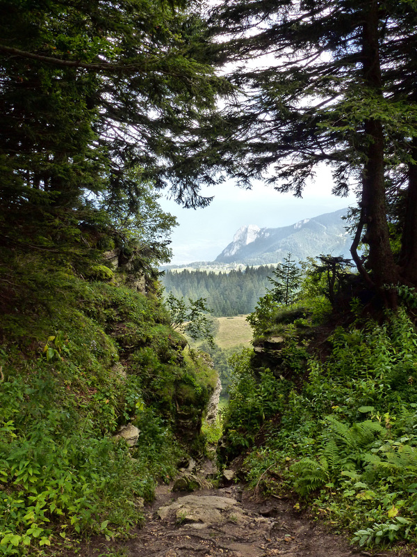
[[[244,190],[230,182],[202,191],[203,195],[215,196],[205,208],[183,209],[174,201],[161,198],[163,210],[174,214],[179,222],[171,237],[171,264],[215,260],[241,226],[279,228],[356,204],[353,194],[347,198],[333,196],[332,185],[329,168],[323,166],[301,199],[279,194],[261,183]]]

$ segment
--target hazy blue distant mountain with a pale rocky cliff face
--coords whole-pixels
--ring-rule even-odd
[[[320,253],[350,258],[352,240],[342,220],[347,209],[321,214],[281,228],[259,228],[254,224],[242,226],[216,262],[239,262],[265,265],[283,261],[288,252],[293,258],[305,260]]]

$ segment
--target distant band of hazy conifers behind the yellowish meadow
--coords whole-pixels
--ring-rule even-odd
[[[165,272],[161,281],[175,297],[205,298],[212,315],[229,317],[254,311],[259,298],[265,295],[271,275],[269,265],[224,273],[184,269]]]

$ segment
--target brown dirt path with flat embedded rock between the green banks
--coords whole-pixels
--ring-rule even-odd
[[[172,487],[172,486],[171,486]],[[364,550],[297,511],[291,499],[256,500],[243,485],[172,492],[161,485],[145,525],[128,540],[90,540],[82,557],[414,557],[416,551]],[[70,554],[67,554],[70,557]]]

